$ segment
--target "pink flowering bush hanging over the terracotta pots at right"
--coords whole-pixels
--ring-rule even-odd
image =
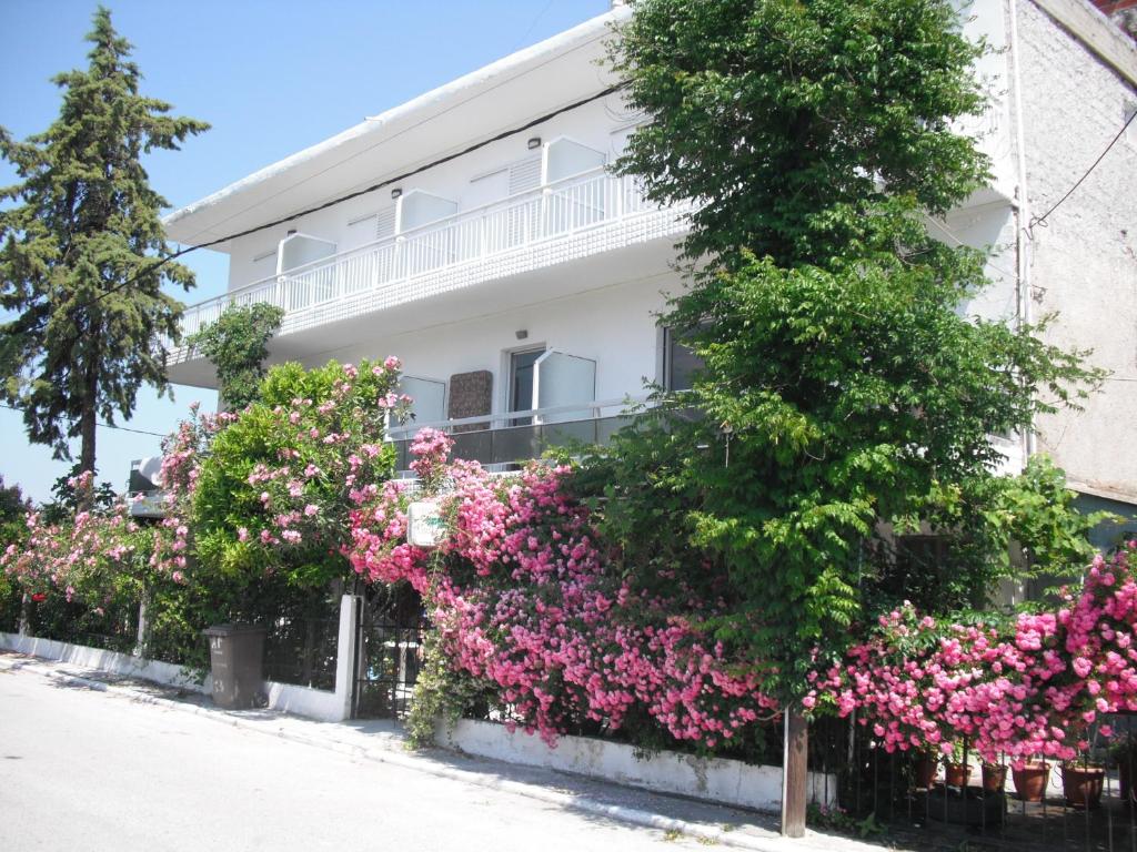
[[[894,610],[812,676],[806,701],[855,711],[890,752],[966,742],[988,761],[1073,759],[1102,715],[1137,710],[1135,552],[1096,557],[1056,611],[960,624]]]

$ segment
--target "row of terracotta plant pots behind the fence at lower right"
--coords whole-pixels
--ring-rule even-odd
[[[949,787],[966,787],[971,779],[971,765],[946,762],[944,765],[944,782]],[[1131,795],[1132,784],[1121,772],[1121,795]],[[936,777],[936,761],[924,755],[915,762],[916,786],[928,790]],[[1046,795],[1051,778],[1051,765],[1044,762],[1024,763],[1020,769],[1012,769],[1011,777],[1014,790],[1027,802],[1040,802]],[[1105,769],[1096,766],[1063,766],[1062,792],[1069,804],[1080,808],[1096,808],[1102,800],[1102,787],[1105,783]],[[1006,784],[1006,766],[982,766],[982,787],[987,793],[997,793]]]

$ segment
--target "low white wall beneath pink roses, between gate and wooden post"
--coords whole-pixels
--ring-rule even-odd
[[[644,752],[623,743],[580,736],[563,736],[557,740],[556,749],[549,749],[540,737],[511,733],[504,725],[471,719],[462,719],[453,727],[439,722],[437,740],[450,749],[509,763],[545,767],[760,811],[781,810],[781,767],[669,751]],[[811,802],[836,804],[836,777],[810,772],[808,795]]]

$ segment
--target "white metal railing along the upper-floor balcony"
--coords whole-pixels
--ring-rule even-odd
[[[229,306],[265,302],[285,311],[380,290],[659,207],[633,177],[592,169],[439,222],[289,269],[186,308],[182,333],[216,321]]]

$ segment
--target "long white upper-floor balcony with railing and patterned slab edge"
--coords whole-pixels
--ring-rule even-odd
[[[188,308],[182,332],[198,332],[231,304],[264,302],[285,310],[283,337],[677,236],[686,229],[683,214],[690,209],[661,208],[645,199],[634,178],[592,169],[230,291]],[[172,362],[191,357],[183,346]]]

